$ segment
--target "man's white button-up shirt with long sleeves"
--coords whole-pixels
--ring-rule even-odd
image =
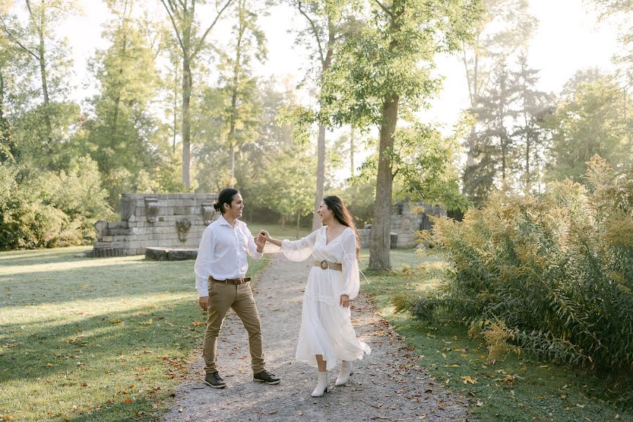
[[[262,252],[245,222],[235,221],[235,225],[219,217],[207,226],[200,240],[198,257],[193,271],[196,273],[196,290],[200,298],[209,295],[209,276],[216,280],[239,279],[248,271],[246,254],[259,260]]]

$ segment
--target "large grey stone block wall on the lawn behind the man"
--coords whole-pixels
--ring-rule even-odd
[[[178,259],[182,250],[198,248],[205,227],[219,217],[215,200],[215,193],[125,193],[121,221],[95,223],[93,256],[142,255],[155,248],[165,253],[164,259],[171,250]]]

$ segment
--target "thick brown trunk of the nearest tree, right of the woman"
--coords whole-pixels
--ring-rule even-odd
[[[389,252],[391,248],[391,196],[392,160],[395,129],[398,121],[399,96],[393,94],[385,98],[381,123],[381,140],[378,148],[378,175],[376,177],[376,201],[373,205],[371,224],[371,247],[369,249],[369,269],[388,270],[391,268]]]

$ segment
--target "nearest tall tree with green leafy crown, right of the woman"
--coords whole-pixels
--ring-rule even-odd
[[[380,127],[369,267],[389,269],[394,141],[400,116],[426,103],[438,51],[454,51],[471,32],[478,1],[371,1],[371,19],[345,42],[324,78],[322,118]]]

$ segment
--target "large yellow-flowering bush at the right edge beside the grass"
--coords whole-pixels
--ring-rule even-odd
[[[498,193],[463,222],[435,219],[426,236],[454,262],[437,299],[465,323],[501,321],[545,359],[629,371],[633,169],[618,174],[597,156],[588,167],[587,187]]]

